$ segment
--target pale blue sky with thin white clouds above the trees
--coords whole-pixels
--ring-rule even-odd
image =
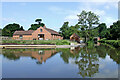
[[[64,22],[69,26],[78,23],[77,15],[82,10],[92,11],[99,15],[100,23],[106,23],[107,27],[118,20],[118,2],[107,0],[81,1],[81,2],[2,2],[2,26],[17,23],[25,30],[35,19],[42,19],[47,28],[59,31]]]

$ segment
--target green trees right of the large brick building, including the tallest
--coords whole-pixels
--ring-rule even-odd
[[[89,11],[82,11],[79,15],[78,22],[75,26],[69,26],[69,22],[64,22],[60,28],[60,34],[64,39],[69,39],[73,33],[92,40],[93,37],[106,38],[109,40],[120,39],[120,20],[113,22],[110,27],[105,23],[99,22],[99,16]]]

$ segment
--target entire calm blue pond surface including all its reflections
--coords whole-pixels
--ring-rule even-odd
[[[3,78],[118,78],[120,51],[105,46],[3,49]]]

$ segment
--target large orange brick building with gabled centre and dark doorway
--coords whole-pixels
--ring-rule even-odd
[[[39,27],[37,30],[15,31],[14,40],[61,40],[63,37],[52,29]]]

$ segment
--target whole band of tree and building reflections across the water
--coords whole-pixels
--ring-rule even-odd
[[[19,60],[21,57],[31,57],[32,60],[37,60],[36,64],[44,65],[49,58],[56,54],[60,54],[61,59],[65,64],[75,64],[78,66],[79,74],[82,77],[94,77],[99,73],[99,59],[105,59],[107,55],[120,64],[119,49],[110,49],[106,46],[95,47],[76,47],[76,48],[60,48],[60,49],[3,49],[2,55],[9,60]],[[63,64],[64,65],[64,64]]]

